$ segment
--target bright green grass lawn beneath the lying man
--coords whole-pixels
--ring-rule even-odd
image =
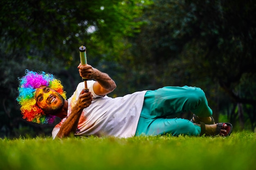
[[[0,139],[0,170],[256,170],[256,134]]]

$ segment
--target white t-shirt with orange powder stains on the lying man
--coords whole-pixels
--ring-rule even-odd
[[[134,136],[146,91],[135,92],[124,97],[101,97],[93,91],[94,82],[94,80],[87,81],[89,91],[93,95],[93,101],[89,107],[83,109],[75,135],[125,138]],[[84,82],[79,83],[74,94],[68,99],[67,117],[83,88]],[[66,118],[62,119],[52,130],[53,139],[65,120]]]

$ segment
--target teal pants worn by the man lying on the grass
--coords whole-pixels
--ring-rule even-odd
[[[166,118],[187,111],[200,117],[212,115],[205,94],[200,88],[168,86],[147,91],[135,136],[167,133],[173,136],[181,134],[197,136],[201,132],[200,126],[187,119]]]

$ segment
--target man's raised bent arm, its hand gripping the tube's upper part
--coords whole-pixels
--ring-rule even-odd
[[[93,84],[94,93],[103,96],[106,95],[117,87],[114,80],[112,80],[108,74],[102,73],[96,68],[93,68],[89,64],[81,66],[79,64],[79,74],[81,77],[85,77],[87,79],[95,79],[97,82]]]

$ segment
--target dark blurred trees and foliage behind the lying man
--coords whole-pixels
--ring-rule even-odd
[[[70,97],[81,45],[88,64],[116,81],[111,97],[198,86],[216,121],[256,127],[253,0],[2,0],[0,11],[0,137],[51,135],[54,124],[22,119],[18,77],[53,73]]]

